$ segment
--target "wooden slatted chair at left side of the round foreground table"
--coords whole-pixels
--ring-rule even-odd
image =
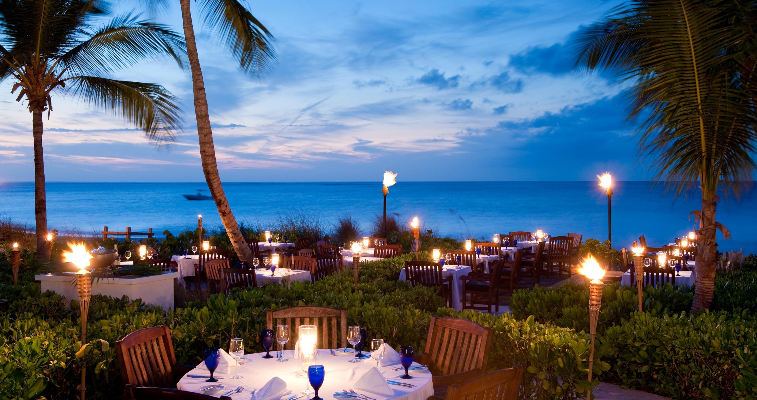
[[[193,365],[176,364],[168,325],[135,330],[116,342],[116,355],[125,385],[175,388]]]

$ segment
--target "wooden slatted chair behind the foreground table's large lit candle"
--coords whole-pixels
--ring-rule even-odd
[[[289,325],[291,340],[284,346],[285,350],[294,349],[300,325],[308,324],[318,327],[317,349],[347,346],[347,309],[303,306],[266,312],[266,329],[274,329],[276,325]]]

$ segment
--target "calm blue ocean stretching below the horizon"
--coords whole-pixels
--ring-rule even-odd
[[[234,215],[248,225],[266,227],[286,214],[307,215],[331,227],[352,216],[369,234],[382,213],[380,182],[226,182]],[[160,236],[204,226],[220,228],[212,200],[185,200],[204,182],[48,182],[48,228],[99,232],[147,231]],[[495,233],[536,231],[558,236],[569,232],[606,240],[607,197],[596,181],[403,182],[389,188],[388,215],[398,222],[418,216],[422,230],[464,239],[491,239]],[[650,246],[670,243],[691,231],[690,211],[699,209],[696,192],[687,197],[665,193],[662,185],[613,182],[614,247],[630,247],[640,234]],[[718,233],[720,250],[757,253],[757,191],[724,197],[718,222],[731,240]],[[0,218],[34,227],[34,184],[0,183]]]

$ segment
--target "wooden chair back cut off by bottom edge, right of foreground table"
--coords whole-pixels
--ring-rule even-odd
[[[447,397],[432,395],[426,400],[516,400],[522,379],[523,367],[517,364],[466,383],[454,383],[447,389]]]

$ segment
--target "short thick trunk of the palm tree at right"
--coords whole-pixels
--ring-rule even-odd
[[[710,197],[715,198],[713,195]],[[712,296],[715,294],[715,270],[718,262],[718,243],[715,243],[715,200],[708,200],[702,196],[702,215],[699,219],[698,238],[696,240],[696,287],[691,312],[699,312],[710,308]]]

